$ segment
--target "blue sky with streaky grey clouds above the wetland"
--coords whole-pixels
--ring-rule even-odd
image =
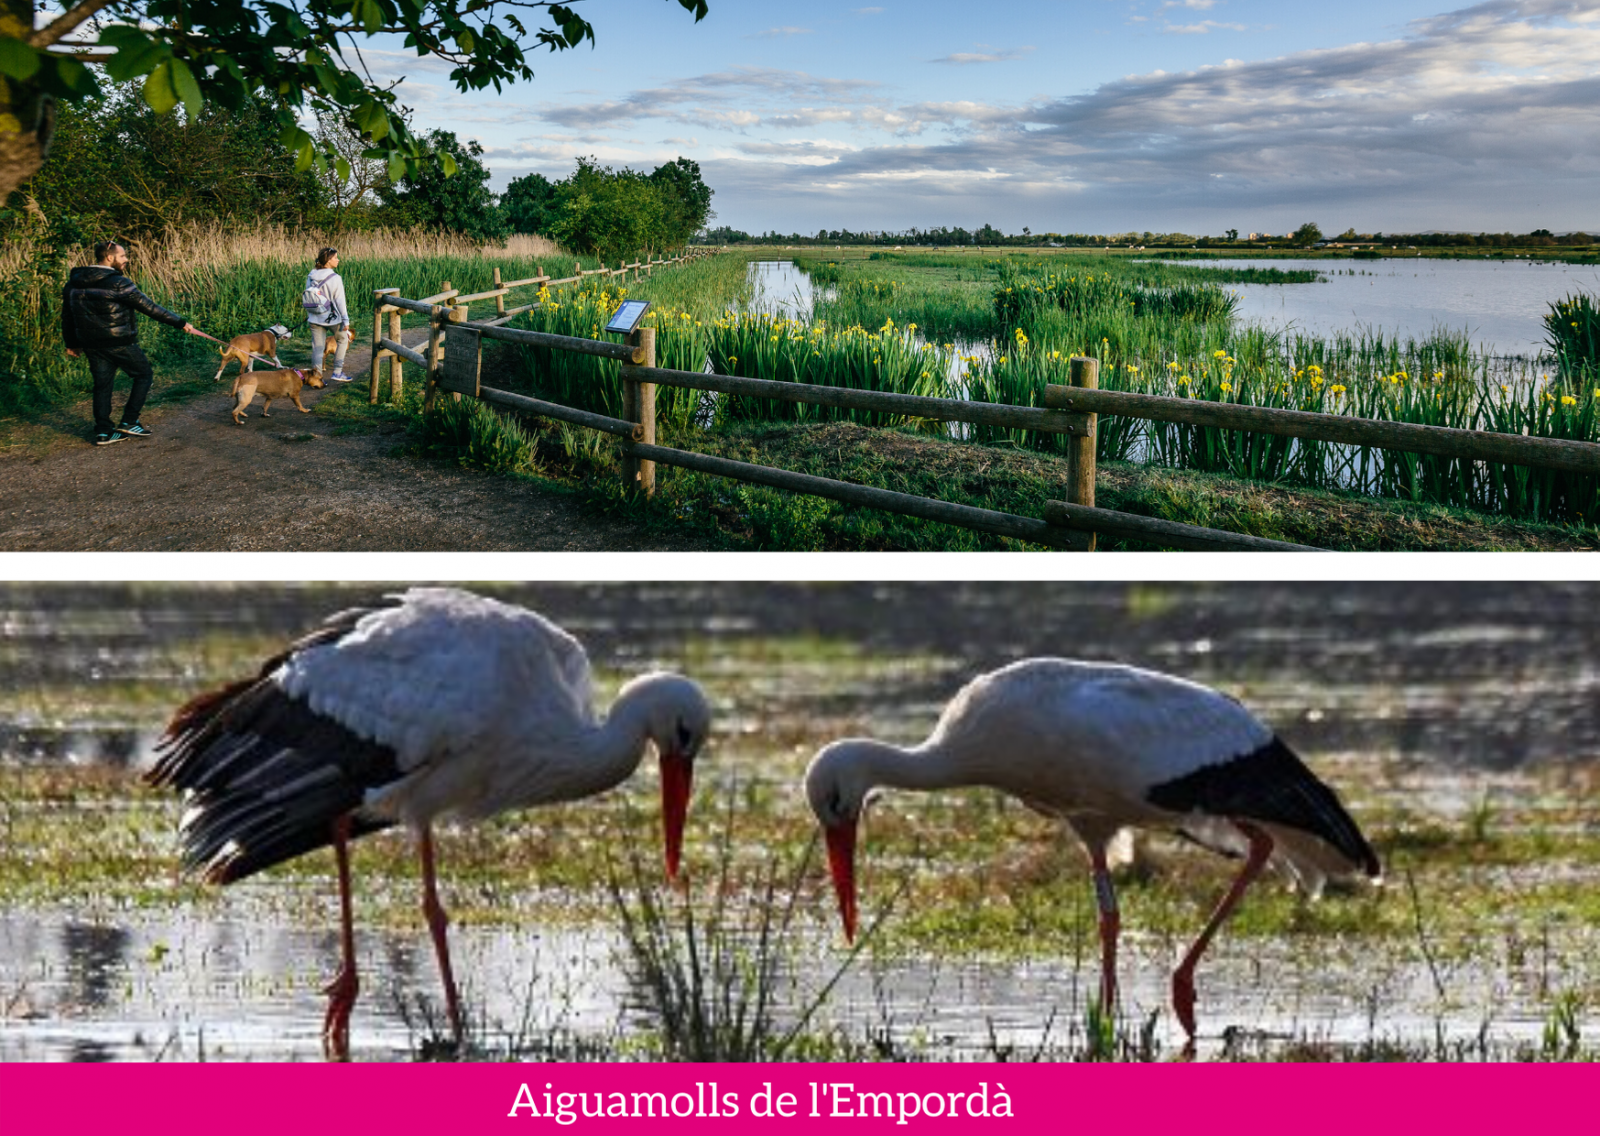
[[[1600,234],[1600,0],[582,0],[597,43],[414,125],[493,186],[574,158],[699,162],[714,224],[760,234]]]

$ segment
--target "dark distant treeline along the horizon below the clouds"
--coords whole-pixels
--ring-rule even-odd
[[[1082,232],[1032,232],[1022,229],[1021,234],[1006,234],[986,224],[982,229],[904,229],[882,230],[867,229],[853,232],[850,229],[819,229],[814,234],[782,234],[768,230],[752,235],[739,229],[722,226],[710,229],[702,240],[712,245],[760,243],[760,245],[922,245],[922,246],[998,246],[1010,248],[1310,248],[1317,245],[1368,245],[1373,248],[1589,248],[1597,240],[1584,232],[1552,234],[1549,229],[1534,229],[1526,234],[1512,232],[1422,232],[1422,234],[1357,234],[1354,229],[1338,237],[1323,240],[1322,229],[1312,222],[1302,224],[1293,234],[1267,235],[1248,234],[1229,229],[1221,237],[1195,235],[1187,232],[1115,232],[1115,234],[1082,234]]]

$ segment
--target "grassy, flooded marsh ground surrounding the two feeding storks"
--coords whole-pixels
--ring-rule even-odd
[[[0,584],[0,1061],[318,1056],[336,963],[326,856],[222,893],[179,883],[179,803],[122,770],[149,760],[189,693],[381,590]],[[794,784],[816,747],[920,739],[966,678],[1019,656],[1134,662],[1238,696],[1339,787],[1390,883],[1306,906],[1258,885],[1200,971],[1202,1056],[1238,1053],[1242,1037],[1426,1050],[1480,1030],[1496,1051],[1536,1050],[1560,1000],[1600,982],[1597,584],[494,590],[579,635],[605,690],[666,666],[712,693],[690,837],[702,872],[722,803],[739,805],[739,856],[798,856],[811,826]],[[581,867],[602,846],[658,856],[653,834],[630,835],[653,824],[653,794],[642,773],[598,802],[442,835],[456,968],[486,1054],[627,1056],[658,1026],[606,885]],[[875,806],[864,910],[896,882],[910,891],[813,1029],[936,1059],[1067,1046],[1094,973],[1085,874],[1050,824],[1000,805],[894,794]],[[904,832],[928,846],[912,853]],[[528,842],[550,853],[525,870]],[[1162,1011],[1168,968],[1227,872],[1163,837],[1139,864],[1123,883],[1136,1022]],[[950,896],[973,880],[992,883],[966,910]],[[438,979],[403,837],[362,842],[357,893],[355,1054],[414,1056],[438,1019]],[[1013,909],[1032,930],[986,923]],[[845,960],[814,866],[795,912],[781,1018]],[[1250,930],[1259,918],[1267,928]],[[1592,1013],[1576,1027],[1600,1043]],[[1168,1054],[1178,1042],[1165,1013],[1155,1038]]]

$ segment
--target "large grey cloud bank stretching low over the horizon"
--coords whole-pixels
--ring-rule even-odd
[[[1597,107],[1600,0],[1490,0],[1381,42],[1013,104],[907,102],[872,82],[734,67],[539,115],[571,131],[720,128],[699,160],[722,216],[746,229],[1278,232],[1310,216],[1594,230]]]

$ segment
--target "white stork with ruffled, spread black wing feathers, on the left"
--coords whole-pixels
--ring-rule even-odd
[[[341,966],[323,1043],[349,1056],[358,990],[347,843],[392,824],[416,834],[422,910],[456,1040],[461,1006],[434,872],[435,819],[571,802],[624,781],[654,744],[667,875],[675,877],[693,760],[710,704],[682,675],[629,682],[600,718],[589,659],[542,616],[454,589],[414,587],[342,611],[258,677],[178,710],[146,774],[184,790],[184,861],[211,883],[333,845]]]

